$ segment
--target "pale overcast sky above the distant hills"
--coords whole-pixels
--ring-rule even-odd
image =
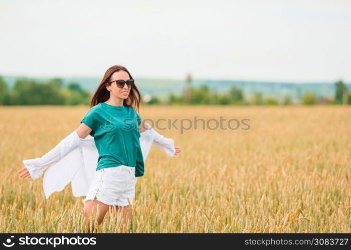
[[[351,81],[351,0],[1,0],[0,74]]]

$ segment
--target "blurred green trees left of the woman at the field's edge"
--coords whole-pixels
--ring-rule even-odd
[[[12,88],[0,76],[1,105],[77,105],[89,104],[91,93],[78,83],[64,86],[63,80],[53,78],[38,82],[28,78],[18,78]]]

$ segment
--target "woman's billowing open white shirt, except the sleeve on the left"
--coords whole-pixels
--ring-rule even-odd
[[[174,141],[156,132],[149,124],[147,125],[148,129],[140,133],[139,137],[144,162],[151,145],[161,148],[172,157],[175,153]],[[99,154],[93,136],[88,135],[80,140],[78,147],[46,170],[43,187],[47,199],[53,192],[62,191],[70,182],[75,197],[86,196],[96,171]]]

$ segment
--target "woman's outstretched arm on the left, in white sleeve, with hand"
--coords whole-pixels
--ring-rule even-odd
[[[62,139],[59,144],[42,157],[23,160],[22,162],[25,167],[18,171],[20,177],[39,178],[46,168],[60,161],[69,152],[79,146],[80,139],[84,139],[91,131],[92,129],[89,126],[81,123],[77,129]]]

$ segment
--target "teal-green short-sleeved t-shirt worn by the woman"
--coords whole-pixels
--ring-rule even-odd
[[[96,170],[119,165],[135,166],[135,176],[144,175],[140,147],[141,118],[133,107],[99,102],[80,121],[89,126],[99,152]]]

